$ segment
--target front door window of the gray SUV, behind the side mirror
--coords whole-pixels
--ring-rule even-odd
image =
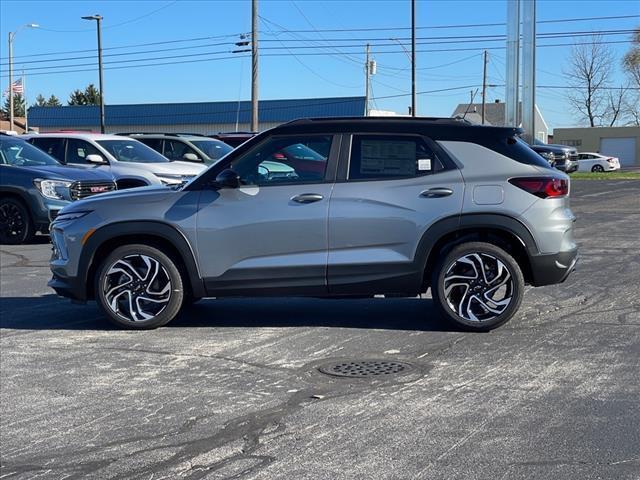
[[[321,183],[332,137],[273,137],[233,161],[230,168],[245,185]]]

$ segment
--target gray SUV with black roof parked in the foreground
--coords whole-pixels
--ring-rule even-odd
[[[154,328],[202,297],[416,296],[482,331],[577,258],[569,180],[515,128],[297,120],[185,186],[105,194],[52,227],[49,285]],[[295,175],[270,175],[271,164]]]

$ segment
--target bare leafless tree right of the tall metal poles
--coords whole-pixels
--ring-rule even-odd
[[[611,106],[618,104],[608,92],[613,66],[613,53],[597,35],[589,44],[575,45],[572,49],[565,71],[571,87],[567,94],[569,103],[592,127],[605,123],[611,116]],[[619,112],[615,114],[616,119],[618,115]]]

